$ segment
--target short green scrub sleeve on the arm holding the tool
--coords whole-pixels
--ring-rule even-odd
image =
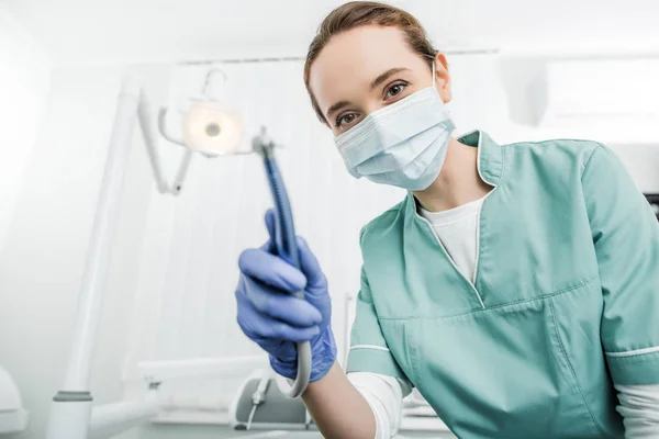
[[[407,381],[382,335],[364,268],[346,372],[375,372]]]

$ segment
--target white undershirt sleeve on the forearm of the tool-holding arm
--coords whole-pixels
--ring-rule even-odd
[[[376,418],[376,439],[393,438],[399,430],[403,396],[410,394],[407,383],[371,372],[348,373],[348,380],[361,393]]]

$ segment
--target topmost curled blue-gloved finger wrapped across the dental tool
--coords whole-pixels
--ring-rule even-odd
[[[288,293],[303,290],[306,285],[306,278],[300,270],[265,250],[243,251],[238,267],[245,275]]]

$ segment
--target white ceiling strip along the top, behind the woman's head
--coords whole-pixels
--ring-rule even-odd
[[[57,64],[302,56],[340,0],[0,0]],[[659,52],[656,0],[399,0],[439,48]]]

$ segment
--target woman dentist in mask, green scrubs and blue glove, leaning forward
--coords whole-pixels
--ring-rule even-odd
[[[387,4],[334,10],[304,81],[348,172],[409,191],[361,230],[346,371],[306,244],[241,256],[238,323],[283,376],[311,341],[322,434],[390,438],[416,387],[460,438],[659,438],[659,225],[616,156],[453,137],[446,58]]]

